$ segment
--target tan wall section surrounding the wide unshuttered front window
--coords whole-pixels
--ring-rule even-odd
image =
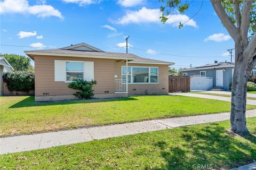
[[[125,66],[124,62],[115,62],[115,75],[116,79],[122,79],[121,67]],[[145,66],[145,67],[158,67],[158,83],[157,84],[128,84],[128,95],[145,95],[147,94],[168,94],[169,82],[168,82],[168,65],[160,64],[132,64],[128,63],[128,66]]]

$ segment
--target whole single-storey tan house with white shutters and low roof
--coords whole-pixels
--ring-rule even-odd
[[[96,80],[97,98],[168,94],[168,66],[174,64],[103,52],[85,43],[25,53],[35,61],[36,101],[74,99],[76,91],[68,84],[75,78]]]

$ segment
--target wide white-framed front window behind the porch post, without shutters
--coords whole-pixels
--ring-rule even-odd
[[[158,67],[128,67],[128,83],[158,83]],[[126,82],[126,66],[122,66],[122,83]]]

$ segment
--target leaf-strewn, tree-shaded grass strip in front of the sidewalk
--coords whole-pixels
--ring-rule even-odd
[[[256,159],[256,117],[239,137],[229,121],[1,155],[1,169],[231,169]]]

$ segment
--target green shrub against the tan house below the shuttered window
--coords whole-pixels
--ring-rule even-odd
[[[86,80],[81,80],[81,79],[75,79],[73,82],[71,82],[68,87],[70,89],[74,89],[74,90],[80,90],[77,91],[75,94],[73,94],[74,96],[80,98],[80,99],[90,99],[91,97],[94,96],[93,91],[92,90],[92,86],[93,84],[96,84],[97,81],[91,81],[88,82]]]

